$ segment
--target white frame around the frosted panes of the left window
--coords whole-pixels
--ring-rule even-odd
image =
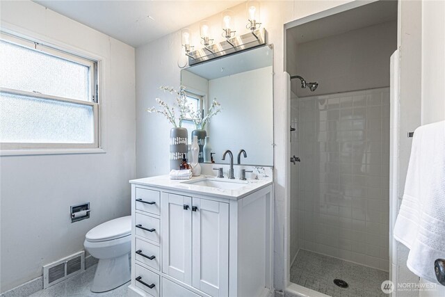
[[[90,67],[90,88],[88,90],[88,101],[72,99],[67,97],[58,97],[54,95],[46,95],[43,93],[29,92],[25,90],[17,90],[10,88],[0,88],[1,93],[9,93],[14,95],[22,95],[26,97],[35,97],[47,99],[57,102],[67,102],[71,104],[79,104],[83,106],[92,106],[94,138],[92,143],[0,143],[0,155],[16,155],[16,154],[65,154],[65,153],[94,153],[104,152],[102,150],[102,125],[101,125],[101,104],[99,96],[99,77],[100,63],[97,58],[84,57],[77,54],[67,47],[52,47],[49,42],[40,42],[33,38],[22,37],[19,34],[0,32],[0,39],[15,45],[41,51],[44,54],[62,58],[67,61],[79,63]],[[63,49],[62,49],[63,48]]]

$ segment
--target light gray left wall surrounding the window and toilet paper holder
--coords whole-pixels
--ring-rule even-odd
[[[102,56],[106,153],[1,156],[1,292],[42,275],[42,266],[83,250],[85,234],[130,214],[136,176],[134,49],[31,1],[2,1],[1,25]],[[2,28],[2,29],[3,29]],[[91,218],[71,223],[70,205]]]

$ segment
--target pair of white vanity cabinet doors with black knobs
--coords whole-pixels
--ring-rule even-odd
[[[229,203],[162,193],[162,272],[210,296],[229,294]]]

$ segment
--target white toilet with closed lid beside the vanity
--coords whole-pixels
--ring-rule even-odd
[[[83,243],[92,257],[99,259],[91,291],[115,289],[131,278],[131,216],[123,216],[92,228]]]

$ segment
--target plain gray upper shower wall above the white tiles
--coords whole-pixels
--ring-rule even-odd
[[[297,96],[389,86],[389,57],[397,49],[396,36],[397,22],[393,21],[298,44],[296,73],[319,85],[310,92],[295,79]]]

